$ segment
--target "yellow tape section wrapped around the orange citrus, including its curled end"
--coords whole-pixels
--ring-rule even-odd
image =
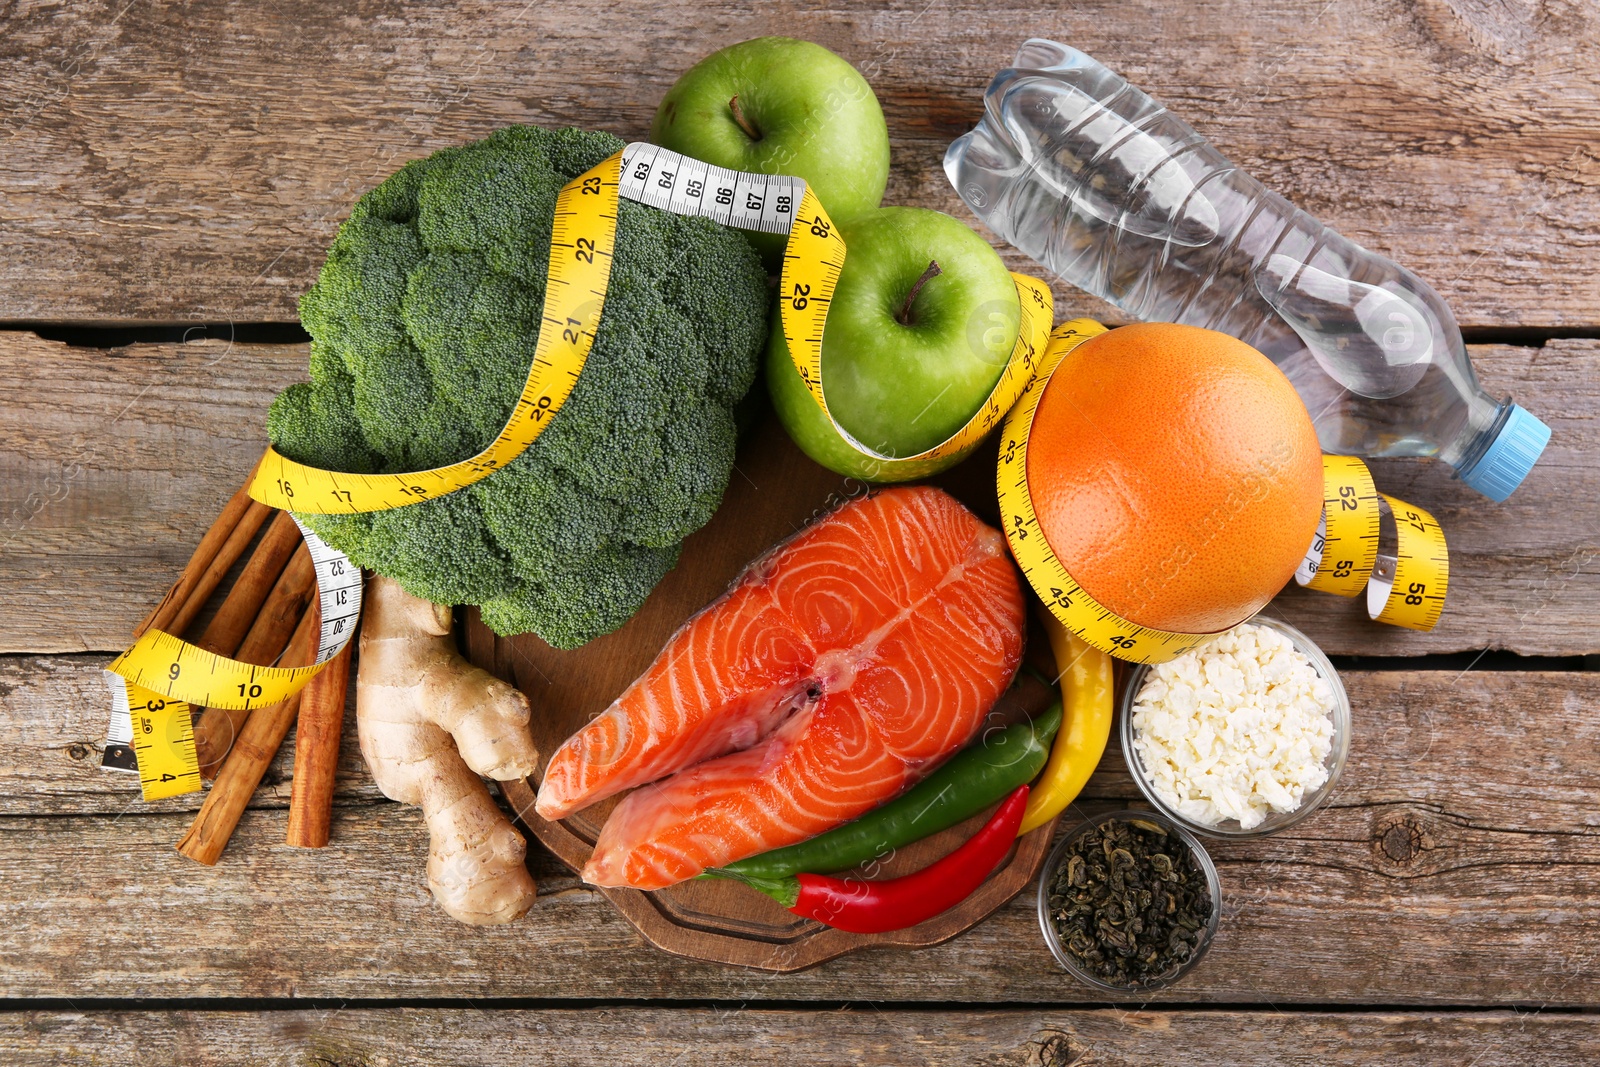
[[[1102,333],[1106,326],[1088,318],[1051,333],[1038,374],[1005,421],[997,464],[1000,512],[1011,553],[1051,614],[1110,656],[1157,664],[1213,635],[1138,625],[1094,600],[1050,549],[1027,486],[1027,442],[1045,387],[1069,352]],[[1379,552],[1384,515],[1395,530],[1394,555]],[[1430,630],[1450,584],[1445,534],[1421,507],[1378,493],[1360,459],[1323,456],[1323,517],[1296,581],[1341,597],[1365,589],[1368,614],[1378,622]]]

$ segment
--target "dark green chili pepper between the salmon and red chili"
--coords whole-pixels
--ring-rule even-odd
[[[1032,781],[1045,766],[1058,729],[1059,701],[1032,721],[986,731],[909,792],[854,822],[706,873],[723,878],[787,878],[802,872],[850,870],[883,861],[894,849],[947,830]]]

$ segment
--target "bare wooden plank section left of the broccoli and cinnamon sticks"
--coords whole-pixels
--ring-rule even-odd
[[[0,651],[122,649],[266,448],[306,346],[0,333]]]

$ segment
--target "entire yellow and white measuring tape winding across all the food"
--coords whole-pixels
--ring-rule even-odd
[[[798,178],[730,171],[656,146],[630,144],[568,182],[557,197],[546,301],[528,379],[506,426],[485,450],[432,470],[362,475],[307,467],[269,448],[251,482],[251,498],[301,514],[387,510],[469,486],[522,454],[555,418],[589,357],[610,286],[618,202],[622,197],[678,214],[706,216],[725,226],[787,234],[779,278],[784,339],[813,400],[827,414],[822,333],[846,250],[821,202]],[[1011,358],[984,405],[949,440],[917,456],[885,456],[845,434],[832,414],[829,419],[862,454],[885,466],[914,464],[976,445],[1021,398],[1022,405],[1006,421],[1000,498],[1002,506],[1014,512],[1006,534],[1034,587],[1067,625],[1112,654],[1154,661],[1190,648],[1205,635],[1136,627],[1096,605],[1072,582],[1045,544],[1027,498],[1026,477],[1008,486],[1003,472],[1018,450],[1026,456],[1027,427],[1038,406],[1042,382],[1078,341],[1104,331],[1098,323],[1077,320],[1051,338],[1048,286],[1027,275],[1013,278],[1022,314]],[[1022,408],[1026,419],[1018,418]],[[1026,461],[1016,469],[1026,475]],[[1427,625],[1432,625],[1445,592],[1443,539],[1426,512],[1402,504],[1392,509],[1397,520],[1405,515],[1398,522],[1400,550],[1387,573],[1382,560],[1378,561],[1368,597],[1374,595],[1374,589],[1389,590],[1376,616],[1381,621],[1413,625],[1427,617]],[[1414,547],[1414,537],[1408,534],[1413,525],[1438,536],[1437,550],[1427,542],[1408,552]],[[245,664],[170,633],[147,632],[107,669],[114,697],[109,741],[133,745],[146,800],[198,789],[190,707],[248,710],[286,701],[349,641],[360,613],[360,571],[304,526],[302,533],[312,550],[322,597],[317,665]],[[1341,539],[1347,536],[1354,534],[1347,533],[1339,515],[1338,522],[1330,522],[1322,541],[1323,545],[1342,545]],[[1342,550],[1326,555],[1326,565],[1322,557],[1307,565],[1317,587],[1349,579],[1339,565]]]

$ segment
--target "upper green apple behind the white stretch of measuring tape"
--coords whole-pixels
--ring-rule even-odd
[[[650,139],[696,160],[806,179],[842,221],[878,206],[890,133],[867,80],[821,45],[757,37],[690,67],[656,109]],[[784,238],[749,234],[778,269]]]

